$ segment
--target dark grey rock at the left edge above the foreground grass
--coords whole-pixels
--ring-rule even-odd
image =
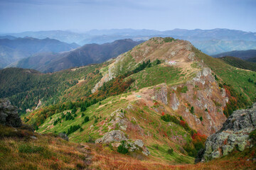
[[[18,108],[12,106],[7,98],[0,98],[0,124],[9,125],[15,128],[21,126],[21,118],[18,115]]]

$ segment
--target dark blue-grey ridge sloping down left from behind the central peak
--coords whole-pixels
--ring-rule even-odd
[[[130,39],[116,40],[103,45],[84,45],[70,52],[41,53],[19,61],[15,67],[37,69],[41,72],[57,72],[71,67],[80,67],[87,64],[105,62],[117,57],[123,52],[131,50],[141,42]]]

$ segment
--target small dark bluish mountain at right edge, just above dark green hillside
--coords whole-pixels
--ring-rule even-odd
[[[252,58],[256,57],[256,50],[242,50],[242,51],[235,50],[230,52],[223,52],[218,55],[213,55],[213,57],[225,57],[225,56],[238,57],[242,60],[247,60],[248,62],[250,62]]]

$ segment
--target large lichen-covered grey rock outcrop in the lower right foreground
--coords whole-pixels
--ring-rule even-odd
[[[256,103],[252,108],[234,111],[223,123],[223,128],[206,140],[206,149],[196,162],[207,162],[232,152],[242,151],[250,146],[249,133],[256,128]]]

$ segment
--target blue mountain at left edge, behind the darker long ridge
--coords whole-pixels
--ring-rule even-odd
[[[0,39],[0,67],[6,67],[12,62],[40,52],[63,52],[79,47],[53,39],[16,38]]]

